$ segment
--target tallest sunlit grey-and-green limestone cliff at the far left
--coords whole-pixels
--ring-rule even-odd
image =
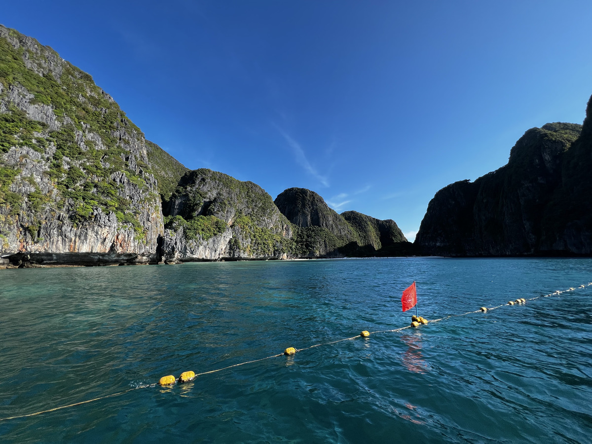
[[[148,262],[162,232],[139,128],[91,76],[0,25],[3,256]]]

